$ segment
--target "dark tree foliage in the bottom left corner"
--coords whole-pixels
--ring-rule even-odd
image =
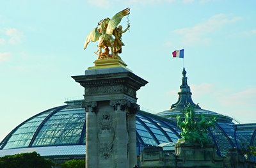
[[[0,168],[51,168],[52,160],[46,160],[35,151],[0,157]]]

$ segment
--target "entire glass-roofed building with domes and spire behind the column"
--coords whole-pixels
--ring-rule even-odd
[[[137,112],[137,155],[145,146],[173,150],[172,144],[181,138],[176,116],[179,114],[184,119],[184,109],[188,104],[195,107],[196,116],[203,113],[205,118],[218,117],[215,126],[208,129],[207,137],[211,144],[215,144],[219,156],[225,157],[228,149],[245,150],[251,145],[256,146],[256,123],[234,124],[228,116],[201,109],[193,103],[185,69],[182,75],[179,98],[169,110],[157,114]],[[14,128],[0,142],[0,157],[36,151],[49,158],[84,158],[85,130],[86,112],[81,108],[81,100],[70,100],[67,105],[36,114]],[[251,155],[250,160],[256,162],[256,157]]]

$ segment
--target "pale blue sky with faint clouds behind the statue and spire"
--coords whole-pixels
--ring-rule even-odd
[[[138,104],[165,111],[177,101],[184,48],[193,101],[202,109],[256,121],[256,1],[1,1],[0,141],[31,116],[82,96],[71,78],[93,66],[84,40],[101,19],[131,8],[122,60],[149,83]],[[127,18],[121,25],[127,26]]]

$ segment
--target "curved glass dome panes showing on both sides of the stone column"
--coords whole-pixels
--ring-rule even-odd
[[[85,145],[85,126],[86,113],[80,101],[68,102],[21,123],[4,138],[0,149]],[[180,138],[175,124],[143,111],[136,114],[136,128],[137,143],[142,146],[177,142]]]

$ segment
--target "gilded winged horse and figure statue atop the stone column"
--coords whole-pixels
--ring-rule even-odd
[[[97,47],[99,48],[97,52],[94,52],[99,57],[98,59],[116,59],[118,58],[118,53],[122,53],[122,46],[124,43],[122,42],[122,34],[129,29],[129,19],[127,21],[127,28],[123,31],[122,26],[118,26],[120,24],[122,18],[126,15],[130,14],[130,9],[126,8],[118,13],[116,13],[112,19],[108,17],[106,19],[100,20],[97,27],[95,27],[87,36],[84,42],[84,49],[86,49],[89,42],[96,42],[99,40]],[[118,27],[117,27],[118,26]],[[115,39],[113,38],[115,37]],[[109,47],[111,49],[111,54],[109,54]],[[104,49],[104,52],[102,52]]]

